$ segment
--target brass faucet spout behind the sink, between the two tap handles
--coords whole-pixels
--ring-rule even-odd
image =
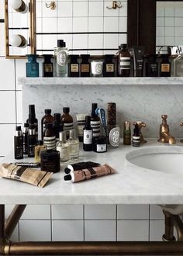
[[[176,140],[173,136],[169,133],[169,126],[167,125],[167,115],[162,115],[162,123],[160,126],[160,139],[157,140],[158,142],[175,144]]]

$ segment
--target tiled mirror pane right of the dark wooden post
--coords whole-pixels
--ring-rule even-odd
[[[157,46],[183,43],[182,2],[157,2]]]

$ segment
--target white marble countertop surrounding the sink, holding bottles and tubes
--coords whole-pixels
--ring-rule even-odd
[[[160,144],[154,139],[140,148],[148,150],[152,146],[175,147],[183,154],[183,144]],[[64,165],[43,189],[0,178],[0,204],[183,204],[183,175],[126,166],[125,156],[130,150],[136,147],[120,144],[105,154],[81,150],[79,161],[108,163],[116,169],[114,175],[85,182],[65,182]],[[3,162],[14,161],[12,153],[3,159]]]

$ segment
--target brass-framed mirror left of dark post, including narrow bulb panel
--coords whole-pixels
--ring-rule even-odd
[[[57,0],[52,9],[52,1],[23,0],[28,12],[22,14],[5,0],[6,57],[53,54],[58,39],[64,39],[71,54],[116,54],[119,44],[129,38],[133,1],[117,1],[120,8],[112,9],[109,0]],[[10,39],[15,34],[24,36],[28,46],[13,47]]]

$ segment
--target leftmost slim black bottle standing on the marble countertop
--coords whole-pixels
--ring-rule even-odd
[[[16,126],[16,133],[14,136],[14,156],[16,159],[23,158],[23,137],[21,126]]]

